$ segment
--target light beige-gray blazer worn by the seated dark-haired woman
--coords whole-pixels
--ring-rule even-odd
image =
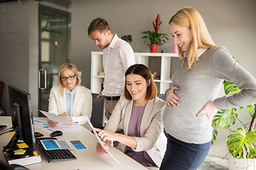
[[[116,132],[118,128],[122,128],[124,135],[127,135],[132,105],[133,100],[128,101],[124,96],[121,96],[110,116],[110,120],[107,122],[105,130]],[[157,166],[161,165],[161,160],[164,158],[164,152],[166,151],[167,140],[163,132],[162,120],[165,106],[165,101],[160,98],[148,101],[142,117],[141,137],[135,137],[137,148],[134,151],[146,151]]]

